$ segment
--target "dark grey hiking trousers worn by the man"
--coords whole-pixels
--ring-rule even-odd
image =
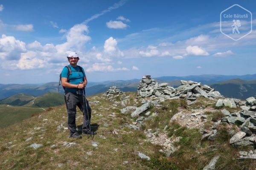
[[[68,121],[67,121],[67,127],[70,130],[70,135],[73,133],[76,133],[76,106],[79,107],[80,111],[83,112],[84,103],[83,103],[83,95],[80,94],[73,94],[71,92],[65,93],[65,102],[67,106],[67,114],[68,114]],[[89,130],[89,120],[91,118],[91,108],[89,106],[89,103],[86,99],[87,105],[85,105],[85,113],[88,112],[89,119],[87,115],[84,115],[83,112],[83,126],[82,131],[87,132]],[[87,106],[87,108],[86,108]]]

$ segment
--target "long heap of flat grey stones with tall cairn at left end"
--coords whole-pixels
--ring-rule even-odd
[[[198,97],[204,96],[205,98],[215,99],[217,97],[223,97],[214,88],[208,85],[201,85],[199,82],[193,81],[180,81],[180,86],[176,89],[168,86],[168,83],[158,84],[154,79],[151,79],[150,75],[145,75],[140,81],[138,86],[138,97],[158,97],[166,99],[187,99],[195,101]]]

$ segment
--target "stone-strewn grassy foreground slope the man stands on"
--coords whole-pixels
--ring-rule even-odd
[[[136,105],[135,93],[131,95],[130,105]],[[180,136],[180,142],[175,143],[180,149],[166,157],[158,150],[160,146],[146,141],[143,130],[131,130],[123,127],[125,123],[131,124],[134,119],[129,115],[119,114],[120,104],[114,107],[114,102],[102,99],[100,96],[90,96],[89,101],[100,101],[91,105],[93,110],[92,127],[97,130],[93,141],[99,142],[98,148],[91,145],[92,140],[83,136],[82,139],[67,138],[68,130],[57,130],[59,125],[66,127],[67,113],[65,106],[59,106],[53,110],[44,112],[41,119],[34,116],[21,123],[0,130],[0,169],[122,169],[122,170],[200,170],[209,163],[215,155],[221,155],[217,163],[218,170],[254,170],[256,163],[252,160],[237,160],[238,150],[229,145],[230,134],[224,125],[217,127],[221,132],[214,141],[201,142],[201,133],[198,129],[180,127],[175,122],[169,122],[172,115],[180,110],[192,111],[201,105],[212,107],[204,99],[191,108],[186,108],[184,100],[172,100],[162,103],[160,108],[150,108],[159,114],[153,119],[145,121],[145,127],[153,131],[157,128],[163,133],[165,125],[169,125],[169,136]],[[138,106],[140,103],[137,104]],[[172,112],[170,112],[172,110]],[[96,113],[95,113],[96,112]],[[102,116],[96,116],[96,114]],[[115,117],[110,116],[115,113]],[[143,113],[144,114],[144,113]],[[213,114],[213,113],[208,113]],[[77,113],[77,125],[81,133],[82,113]],[[214,114],[213,114],[214,115]],[[211,118],[219,119],[216,116]],[[48,121],[43,121],[48,119]],[[209,120],[210,121],[210,120]],[[35,127],[41,127],[34,130]],[[105,137],[105,139],[102,138]],[[26,141],[29,137],[31,140]],[[12,142],[12,143],[8,143]],[[63,142],[75,142],[71,147],[63,146]],[[30,144],[43,144],[43,147],[33,150]],[[14,144],[15,147],[8,148]],[[54,147],[51,147],[56,144]],[[116,151],[114,149],[117,149]],[[91,155],[87,153],[91,152]],[[142,152],[150,156],[151,160],[140,159],[137,154]],[[128,163],[125,163],[128,161]],[[62,167],[58,167],[62,164]]]

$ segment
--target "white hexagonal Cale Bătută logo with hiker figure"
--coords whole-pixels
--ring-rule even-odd
[[[244,7],[234,4],[220,14],[220,31],[232,40],[238,41],[253,30],[253,15]]]

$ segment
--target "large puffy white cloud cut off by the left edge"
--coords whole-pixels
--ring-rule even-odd
[[[0,59],[17,60],[20,53],[26,52],[26,43],[15,37],[2,35],[0,38]]]

